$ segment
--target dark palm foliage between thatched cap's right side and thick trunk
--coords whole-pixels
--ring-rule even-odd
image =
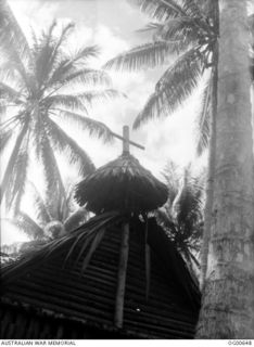
[[[185,169],[183,175],[179,175],[173,163],[168,163],[163,176],[168,187],[168,200],[156,211],[157,222],[175,243],[190,270],[199,278],[204,177],[193,176],[190,167]]]

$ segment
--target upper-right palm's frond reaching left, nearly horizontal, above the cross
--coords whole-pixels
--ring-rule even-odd
[[[104,68],[116,70],[139,70],[155,67],[166,62],[178,42],[155,41],[136,47],[106,62]]]

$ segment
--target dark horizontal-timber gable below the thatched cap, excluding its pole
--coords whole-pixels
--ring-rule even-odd
[[[106,228],[84,274],[80,272],[82,259],[75,264],[75,255],[81,244],[77,244],[75,254],[63,268],[69,248],[67,243],[66,246],[52,250],[49,257],[38,260],[35,255],[29,266],[24,264],[16,272],[15,267],[11,272],[4,270],[2,314],[4,331],[9,333],[2,333],[1,337],[10,338],[11,334],[13,338],[86,338],[84,326],[90,326],[93,338],[97,338],[96,334],[100,331],[104,332],[104,335],[101,335],[103,337],[109,332],[110,338],[112,334],[118,338],[192,338],[200,294],[183,260],[154,219],[150,219],[148,243],[151,246],[151,279],[147,300],[143,236],[145,224],[138,218],[131,218],[129,226],[123,329],[117,330],[114,326],[113,317],[120,244],[120,224],[115,224]],[[17,311],[15,320],[10,316],[14,314],[13,311]],[[45,316],[48,317],[47,321],[43,320]],[[18,327],[18,320],[24,324],[28,317],[33,324],[37,324],[36,330],[31,329],[30,335],[24,326]],[[62,323],[58,323],[55,330],[58,333],[49,333],[49,330],[53,329],[53,323],[51,327],[48,326],[51,320],[54,324],[61,320]],[[80,324],[76,335],[72,335],[74,322],[77,322],[75,329]],[[48,333],[45,333],[46,331]]]

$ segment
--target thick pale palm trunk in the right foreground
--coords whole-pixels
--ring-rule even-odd
[[[214,202],[198,338],[254,338],[253,141],[246,3],[219,0]]]

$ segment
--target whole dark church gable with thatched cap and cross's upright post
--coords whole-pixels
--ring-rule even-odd
[[[123,155],[77,185],[78,203],[98,216],[2,269],[5,338],[193,337],[199,287],[147,214],[167,187],[124,134]]]

